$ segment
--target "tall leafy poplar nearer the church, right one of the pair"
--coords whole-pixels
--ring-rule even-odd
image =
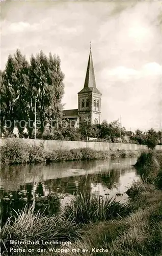
[[[41,51],[31,57],[30,87],[33,89],[30,113],[33,114],[35,97],[37,97],[37,119],[41,121],[41,132],[44,131],[43,121],[51,123],[61,117],[64,94],[64,74],[60,67],[59,56],[49,56]]]

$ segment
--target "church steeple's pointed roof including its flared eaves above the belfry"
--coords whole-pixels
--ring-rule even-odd
[[[95,81],[91,49],[90,49],[90,55],[89,55],[89,59],[88,59],[84,88],[79,93],[86,93],[86,92],[94,92],[94,93],[101,94],[98,91],[98,89],[96,88],[96,81]]]

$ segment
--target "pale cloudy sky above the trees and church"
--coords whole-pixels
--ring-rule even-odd
[[[92,42],[101,120],[162,129],[161,1],[2,1],[1,69],[20,49],[61,58],[65,109],[77,109]]]

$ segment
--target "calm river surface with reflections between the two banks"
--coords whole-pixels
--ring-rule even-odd
[[[74,161],[46,165],[7,166],[1,174],[2,221],[15,210],[30,207],[57,214],[60,205],[76,193],[90,196],[124,193],[132,180],[139,179],[132,166],[136,159]],[[126,195],[117,200],[126,199]]]

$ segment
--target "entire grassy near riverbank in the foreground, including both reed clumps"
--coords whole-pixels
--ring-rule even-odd
[[[162,154],[153,153],[152,157],[160,163]],[[149,161],[152,158],[149,157]],[[34,248],[35,252],[15,252],[16,256],[38,255],[39,247],[46,249],[40,254],[42,256],[161,256],[162,165],[160,163],[160,168],[154,168],[151,163],[147,166],[147,172],[145,168],[143,172],[142,168],[138,170],[141,181],[134,182],[127,190],[128,203],[78,195],[65,207],[61,216],[34,215],[31,208],[18,214],[14,223],[11,219],[6,223],[1,239],[45,241],[52,238],[72,243],[68,246],[23,245],[26,250]],[[151,178],[148,179],[148,176]],[[8,244],[2,246],[5,249]],[[49,252],[49,247],[64,251]],[[72,251],[73,248],[79,248],[79,252]],[[96,252],[92,248],[102,251]],[[69,251],[65,252],[65,249]],[[88,251],[82,252],[83,249]],[[106,252],[103,251],[105,249]]]

